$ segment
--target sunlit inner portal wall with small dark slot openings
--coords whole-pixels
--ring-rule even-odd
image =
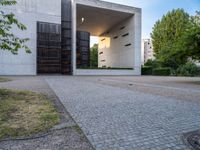
[[[134,25],[132,16],[99,37],[99,67],[134,68]],[[127,33],[129,35],[123,37]],[[114,39],[115,36],[118,38]]]

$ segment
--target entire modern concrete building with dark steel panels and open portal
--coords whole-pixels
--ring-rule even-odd
[[[141,9],[100,0],[17,0],[2,7],[27,26],[31,54],[0,51],[0,75],[140,75]],[[89,66],[89,37],[99,37],[98,67]],[[118,69],[116,69],[118,68]],[[127,70],[125,68],[128,68]]]

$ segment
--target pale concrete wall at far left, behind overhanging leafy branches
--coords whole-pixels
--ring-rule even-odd
[[[61,24],[61,0],[17,0],[15,6],[0,8],[14,12],[26,31],[16,28],[13,32],[21,38],[29,38],[27,43],[31,54],[20,50],[18,55],[0,50],[0,75],[36,75],[37,73],[37,21]]]

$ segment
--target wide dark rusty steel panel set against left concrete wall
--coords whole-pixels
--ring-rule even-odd
[[[37,73],[61,72],[61,26],[37,23]]]

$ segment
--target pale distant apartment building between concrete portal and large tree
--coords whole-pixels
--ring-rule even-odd
[[[142,64],[149,59],[154,59],[153,44],[151,39],[142,40]]]

